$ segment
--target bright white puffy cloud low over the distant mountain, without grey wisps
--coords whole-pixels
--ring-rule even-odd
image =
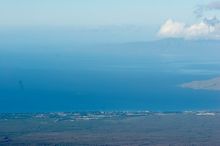
[[[163,38],[220,39],[220,23],[209,24],[203,21],[186,25],[169,19],[161,26],[158,34]]]

